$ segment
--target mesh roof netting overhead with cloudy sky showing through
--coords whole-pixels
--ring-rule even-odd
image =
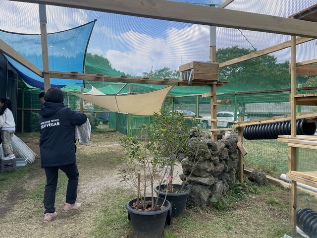
[[[225,0],[177,1],[218,7]],[[316,3],[317,0],[234,0],[225,8],[289,17]],[[1,30],[22,34],[40,33],[38,4],[7,0],[0,0],[0,4]],[[206,25],[53,5],[47,5],[47,18],[48,33],[65,31],[97,19],[87,48],[86,73],[115,76],[125,74],[136,77],[146,75],[150,78],[178,80],[180,65],[191,61],[210,60],[210,27]],[[0,38],[2,39],[2,36]],[[235,59],[290,39],[287,35],[216,27],[216,61],[221,63]],[[50,46],[49,44],[49,51],[55,54],[55,47]],[[316,59],[316,48],[316,40],[298,45],[297,61]],[[218,87],[217,93],[289,88],[290,56],[290,48],[286,48],[220,68],[219,80],[229,83]],[[52,67],[57,65],[57,62],[57,59],[53,61]],[[298,76],[299,83],[306,82],[307,79],[306,76]],[[102,88],[101,91],[109,94],[115,94],[120,90],[128,92],[131,89],[133,92],[148,92],[163,87],[112,85],[108,82],[93,81],[85,84],[87,88],[91,86]],[[125,89],[122,90],[121,86],[125,86]],[[183,86],[173,87],[170,94],[180,96],[206,92],[210,92],[209,87]]]

